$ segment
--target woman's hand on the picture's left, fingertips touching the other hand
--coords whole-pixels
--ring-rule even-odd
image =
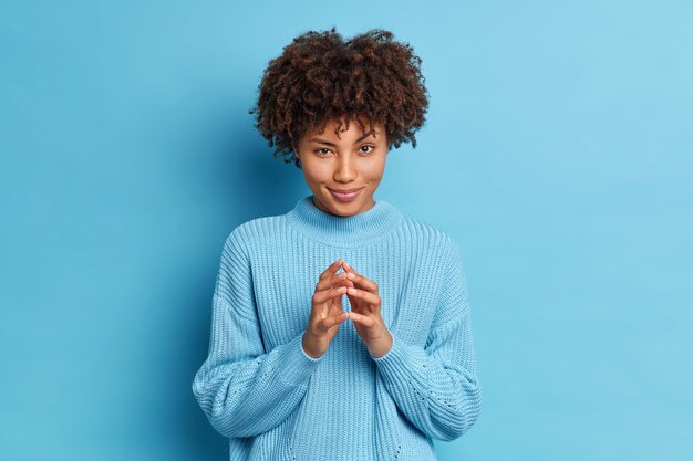
[[[310,318],[303,333],[303,350],[313,357],[322,356],[330,347],[339,325],[346,319],[342,311],[342,295],[346,293],[346,274],[337,274],[343,261],[334,261],[320,274],[312,297]]]

